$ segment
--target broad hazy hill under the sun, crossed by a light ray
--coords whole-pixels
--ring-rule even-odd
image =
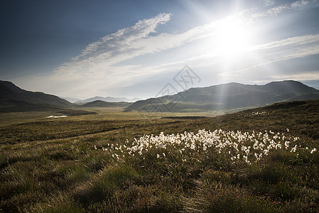
[[[319,99],[319,90],[292,80],[265,85],[239,83],[190,88],[178,94],[141,100],[127,107],[139,111],[210,111],[262,107],[276,102]]]

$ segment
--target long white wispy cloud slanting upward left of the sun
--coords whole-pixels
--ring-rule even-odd
[[[92,72],[100,72],[122,60],[144,54],[145,51],[135,44],[148,38],[150,33],[156,33],[156,27],[170,19],[171,13],[161,13],[154,18],[138,21],[134,26],[106,35],[87,45],[80,55],[57,67],[54,72],[73,78],[82,77]]]

